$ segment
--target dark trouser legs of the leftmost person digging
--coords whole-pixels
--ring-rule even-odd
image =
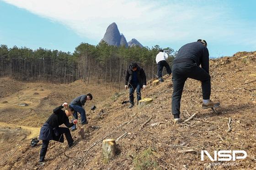
[[[70,134],[69,128],[60,127],[58,129],[58,131],[59,131],[59,134],[65,134],[69,145],[71,145],[73,143],[73,139],[72,139],[72,136]],[[44,161],[44,157],[46,155],[49,142],[50,142],[50,140],[43,140],[43,145],[42,145],[42,148],[41,148],[41,151],[40,151],[39,161]]]

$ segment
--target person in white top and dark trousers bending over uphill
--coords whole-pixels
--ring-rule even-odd
[[[155,61],[157,63],[157,78],[160,82],[164,82],[164,79],[162,77],[164,67],[166,68],[167,73],[169,75],[171,74],[171,67],[165,61],[168,57],[168,54],[162,49],[159,50],[159,53],[155,57]]]

